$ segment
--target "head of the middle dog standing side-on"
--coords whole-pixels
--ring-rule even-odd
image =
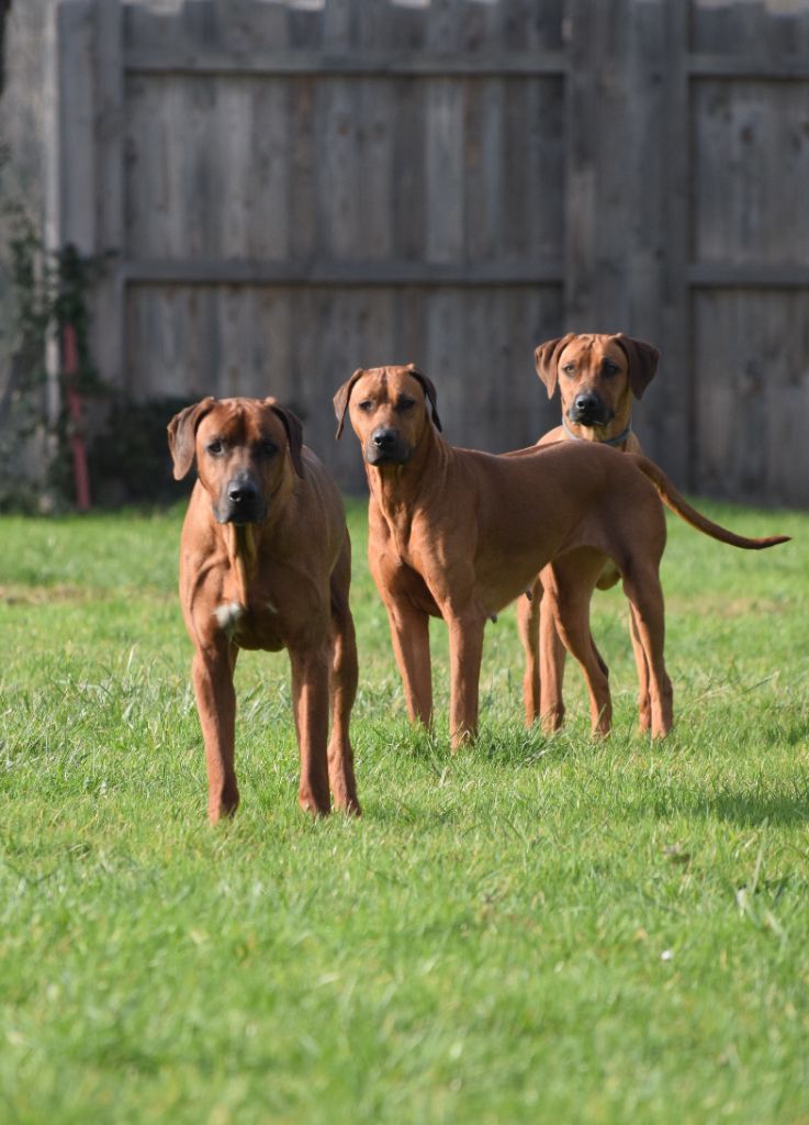
[[[424,371],[407,367],[358,368],[334,397],[337,436],[346,412],[369,465],[404,465],[435,424],[440,430],[436,390]]]

